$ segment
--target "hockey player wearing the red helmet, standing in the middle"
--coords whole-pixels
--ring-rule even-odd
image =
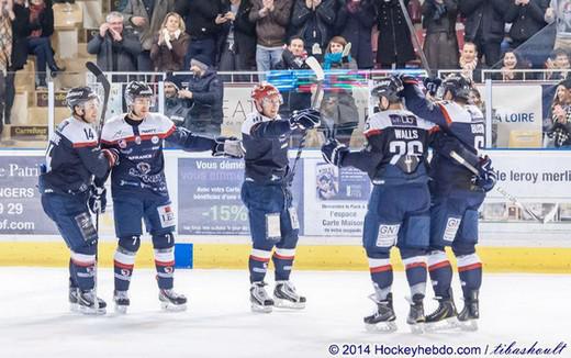
[[[267,82],[256,85],[251,98],[256,111],[246,116],[242,126],[246,159],[242,201],[248,209],[253,238],[249,257],[251,310],[268,313],[275,304],[303,309],[305,298],[296,293],[290,281],[299,222],[290,190],[293,176],[288,143],[293,131],[318,126],[321,116],[316,110],[307,109],[282,120],[278,114],[282,103],[280,92]],[[264,288],[270,257],[276,267],[273,300]]]

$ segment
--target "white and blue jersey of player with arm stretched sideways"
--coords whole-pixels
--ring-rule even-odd
[[[168,197],[163,155],[165,141],[188,152],[212,150],[216,145],[212,138],[177,127],[159,113],[149,113],[139,122],[122,114],[105,123],[101,144],[120,152],[119,165],[111,174],[113,197],[148,191]]]

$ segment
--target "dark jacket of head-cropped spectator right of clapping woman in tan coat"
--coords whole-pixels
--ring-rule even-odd
[[[221,26],[214,20],[225,12],[220,0],[177,0],[175,9],[184,19],[191,40],[215,37]]]

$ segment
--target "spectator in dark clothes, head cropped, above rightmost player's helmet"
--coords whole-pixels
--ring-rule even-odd
[[[507,0],[459,0],[460,15],[466,18],[464,41],[473,42],[488,67],[500,60],[500,44],[504,38],[504,16]]]

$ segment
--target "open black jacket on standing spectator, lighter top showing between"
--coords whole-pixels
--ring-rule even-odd
[[[228,12],[231,9],[229,0],[222,0],[223,12]],[[234,52],[239,54],[244,58],[244,64],[249,65],[247,70],[256,67],[256,23],[249,21],[249,12],[251,10],[250,0],[242,0],[238,7],[238,13],[234,23],[225,23],[222,25],[220,36],[217,38],[217,59],[220,57],[226,44],[231,25],[234,26]]]

